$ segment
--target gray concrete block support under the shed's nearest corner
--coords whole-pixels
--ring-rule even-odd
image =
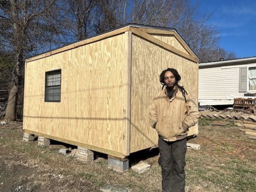
[[[108,155],[108,168],[117,172],[125,172],[129,169],[129,160],[127,158],[118,159]]]

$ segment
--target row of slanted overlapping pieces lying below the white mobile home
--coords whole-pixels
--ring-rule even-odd
[[[256,115],[253,113],[241,111],[200,111],[201,118],[215,119],[215,120],[242,120],[256,122]]]

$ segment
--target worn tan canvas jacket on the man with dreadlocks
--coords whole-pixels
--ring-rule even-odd
[[[198,108],[192,95],[187,92],[187,103],[177,86],[169,99],[166,89],[160,91],[149,108],[149,120],[153,128],[166,141],[176,141],[187,137],[182,123],[194,126],[199,118]]]

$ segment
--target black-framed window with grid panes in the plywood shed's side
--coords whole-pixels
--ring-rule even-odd
[[[61,102],[61,69],[45,72],[45,102]]]

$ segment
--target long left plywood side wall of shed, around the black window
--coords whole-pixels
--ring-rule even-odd
[[[24,129],[123,154],[126,39],[121,34],[28,62]],[[61,102],[44,102],[45,72],[55,69]]]

